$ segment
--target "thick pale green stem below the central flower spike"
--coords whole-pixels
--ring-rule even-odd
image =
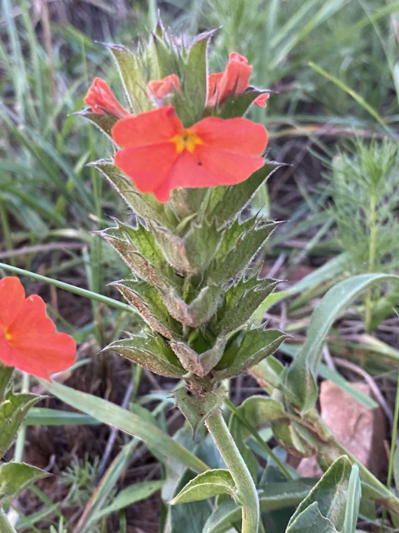
[[[209,429],[214,443],[236,483],[243,513],[242,533],[257,533],[259,528],[259,498],[256,487],[220,410],[207,419],[206,427]]]

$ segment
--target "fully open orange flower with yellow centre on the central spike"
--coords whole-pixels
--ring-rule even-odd
[[[123,149],[115,165],[141,192],[167,202],[176,187],[244,181],[263,165],[264,126],[246,118],[208,117],[184,128],[171,105],[118,120],[112,138]],[[257,156],[257,157],[256,157]]]

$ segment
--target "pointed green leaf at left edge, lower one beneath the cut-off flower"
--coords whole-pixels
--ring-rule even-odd
[[[0,466],[0,506],[11,502],[31,483],[47,476],[47,472],[25,463],[2,464]]]

